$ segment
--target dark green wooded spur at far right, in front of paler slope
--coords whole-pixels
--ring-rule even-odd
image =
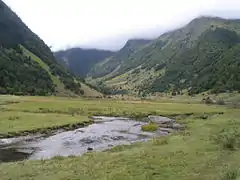
[[[196,46],[167,64],[165,76],[153,84],[153,91],[170,87],[188,88],[189,94],[209,89],[213,93],[240,88],[240,44],[236,32],[222,28],[208,30]]]

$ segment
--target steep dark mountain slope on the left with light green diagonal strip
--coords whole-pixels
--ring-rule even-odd
[[[82,94],[49,47],[0,0],[0,93]]]

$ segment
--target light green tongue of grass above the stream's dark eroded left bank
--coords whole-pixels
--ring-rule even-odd
[[[57,113],[1,112],[0,137],[26,135],[26,133],[44,132],[71,125],[89,122],[86,116]],[[27,131],[27,132],[26,132]]]

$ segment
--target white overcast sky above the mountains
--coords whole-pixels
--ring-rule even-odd
[[[240,0],[4,0],[53,50],[118,49],[200,15],[240,17]]]

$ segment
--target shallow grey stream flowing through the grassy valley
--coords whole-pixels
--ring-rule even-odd
[[[49,137],[24,137],[0,140],[0,162],[39,160],[55,156],[82,155],[103,151],[117,145],[146,141],[165,135],[141,131],[144,122],[126,118],[99,117],[94,124]]]

